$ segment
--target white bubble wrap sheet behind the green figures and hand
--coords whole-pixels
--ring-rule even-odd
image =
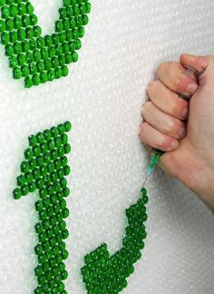
[[[73,122],[68,199],[68,293],[86,293],[83,257],[103,241],[121,247],[124,210],[136,201],[148,164],[138,127],[145,88],[158,64],[180,53],[214,53],[214,2],[92,0],[80,60],[68,77],[25,90],[0,47],[0,293],[36,286],[36,196],[12,190],[28,135]],[[44,34],[62,1],[33,1]],[[148,238],[126,294],[212,294],[214,218],[190,191],[161,171],[148,183]]]

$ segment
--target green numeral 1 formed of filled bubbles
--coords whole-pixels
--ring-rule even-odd
[[[39,200],[35,202],[39,221],[34,227],[38,236],[34,248],[38,259],[34,269],[38,281],[35,294],[67,293],[63,280],[67,279],[68,272],[63,260],[68,258],[64,240],[69,232],[64,219],[69,216],[65,199],[70,191],[65,176],[70,173],[66,154],[71,152],[71,146],[66,132],[71,129],[71,122],[64,122],[29,137],[13,192],[15,200],[19,200],[39,191]]]

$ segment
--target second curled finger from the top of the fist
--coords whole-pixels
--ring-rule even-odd
[[[180,120],[186,120],[189,113],[189,103],[181,99],[179,94],[170,91],[160,81],[152,82],[147,93],[152,101],[163,113]]]

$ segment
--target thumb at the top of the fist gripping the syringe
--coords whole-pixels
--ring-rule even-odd
[[[214,56],[196,56],[192,54],[181,54],[180,64],[191,68],[199,76],[199,84],[213,84],[214,79]]]

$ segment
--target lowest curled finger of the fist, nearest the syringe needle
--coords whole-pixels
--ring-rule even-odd
[[[155,130],[149,123],[141,123],[141,141],[153,148],[164,152],[175,150],[179,146],[179,141]]]

